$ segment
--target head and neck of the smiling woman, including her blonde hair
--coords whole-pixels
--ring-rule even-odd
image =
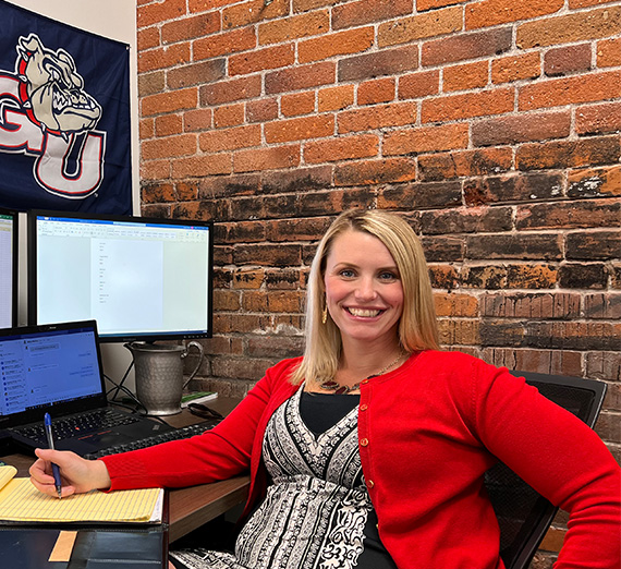
[[[306,350],[292,378],[306,389],[354,385],[399,353],[438,349],[423,247],[397,215],[341,214],[317,247],[306,302]]]

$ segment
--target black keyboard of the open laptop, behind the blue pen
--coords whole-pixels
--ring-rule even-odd
[[[139,421],[139,416],[122,413],[114,409],[96,409],[77,415],[66,416],[52,421],[54,440],[83,436],[94,431],[111,428],[120,425],[131,425]],[[13,432],[47,446],[47,438],[42,422],[40,424],[14,427]]]

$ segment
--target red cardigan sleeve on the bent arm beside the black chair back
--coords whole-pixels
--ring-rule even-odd
[[[555,569],[621,567],[621,469],[581,420],[506,370],[473,363],[483,444],[570,513]]]

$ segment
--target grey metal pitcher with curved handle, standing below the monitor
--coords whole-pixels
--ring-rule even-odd
[[[181,412],[183,388],[198,372],[203,362],[203,346],[188,342],[184,346],[156,346],[146,342],[125,343],[134,358],[136,396],[149,415],[173,415]],[[183,380],[183,359],[191,348],[198,350],[198,362]]]

